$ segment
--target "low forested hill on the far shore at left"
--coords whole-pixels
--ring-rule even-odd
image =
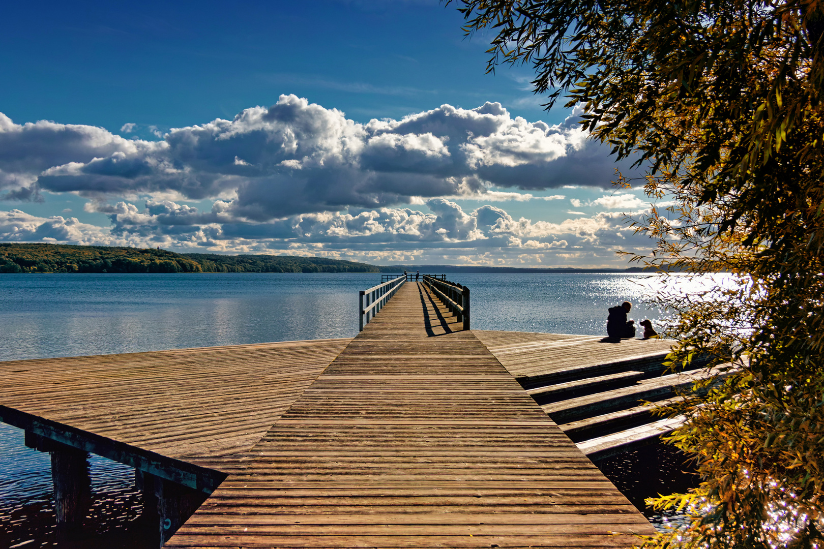
[[[165,249],[2,244],[0,273],[379,272],[368,263],[283,255],[176,254]]]

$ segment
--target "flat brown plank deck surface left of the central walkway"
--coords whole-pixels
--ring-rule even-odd
[[[170,458],[235,454],[350,341],[2,362],[0,405]]]

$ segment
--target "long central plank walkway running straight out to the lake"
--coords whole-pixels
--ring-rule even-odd
[[[166,547],[630,547],[653,533],[415,284],[231,469]]]

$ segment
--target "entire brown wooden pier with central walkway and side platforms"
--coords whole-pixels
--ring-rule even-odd
[[[408,282],[353,339],[4,362],[0,420],[53,459],[138,469],[163,547],[632,547],[653,533],[533,397],[551,407],[570,383],[560,393],[585,397],[584,378],[631,388],[667,343],[462,327]]]

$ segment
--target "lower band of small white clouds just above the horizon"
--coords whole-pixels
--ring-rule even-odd
[[[598,266],[615,261],[616,246],[648,246],[621,216],[607,212],[559,223],[518,219],[486,205],[464,211],[433,198],[429,212],[377,208],[361,212],[321,212],[267,223],[236,222],[216,202],[211,212],[172,201],[90,203],[105,212],[111,229],[63,216],[39,217],[20,210],[0,212],[0,241],[54,242],[200,249],[228,253],[317,255],[372,263],[523,264]]]

